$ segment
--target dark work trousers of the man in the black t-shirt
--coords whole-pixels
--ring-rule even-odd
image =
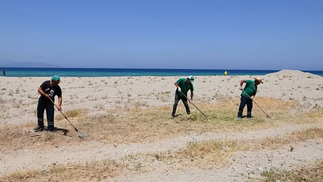
[[[44,127],[44,112],[46,110],[47,115],[47,130],[54,130],[54,104],[38,103],[37,106],[37,118],[38,126]]]

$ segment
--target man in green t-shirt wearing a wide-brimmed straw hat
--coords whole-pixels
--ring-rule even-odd
[[[245,105],[247,105],[247,117],[251,118],[251,110],[252,110],[252,99],[255,97],[257,93],[257,85],[263,83],[261,78],[254,78],[255,80],[241,80],[240,82],[240,90],[245,92],[241,93],[240,106],[238,110],[238,119],[241,119],[243,109]],[[245,83],[245,88],[242,89],[242,84]]]

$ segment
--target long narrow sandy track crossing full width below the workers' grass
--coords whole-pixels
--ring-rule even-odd
[[[73,162],[86,162],[91,160],[116,159],[124,155],[143,153],[143,152],[162,152],[176,150],[184,147],[189,141],[205,141],[216,139],[258,139],[263,137],[274,137],[295,130],[303,130],[309,127],[322,127],[323,122],[307,125],[286,125],[280,128],[267,130],[256,130],[241,133],[218,133],[185,135],[170,140],[160,141],[150,144],[120,145],[111,146],[102,143],[90,143],[76,146],[58,146],[52,151],[35,149],[33,151],[21,150],[9,154],[0,154],[1,174],[13,171],[21,171],[33,168],[45,168],[53,163],[66,164]],[[127,152],[125,152],[127,150]]]

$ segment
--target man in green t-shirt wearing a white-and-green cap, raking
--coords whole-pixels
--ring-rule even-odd
[[[193,81],[194,81],[194,77],[193,76],[188,76],[187,78],[181,78],[179,80],[177,80],[174,84],[175,86],[177,87],[176,91],[175,91],[175,102],[174,102],[174,105],[173,105],[173,112],[172,112],[172,118],[175,118],[175,113],[176,113],[176,108],[177,108],[177,104],[180,100],[182,100],[184,106],[185,106],[185,109],[186,109],[186,112],[187,114],[190,114],[190,108],[188,106],[188,103],[187,103],[187,92],[189,90],[191,90],[191,100],[190,100],[190,103],[193,102],[193,91],[194,91],[194,88],[193,88]],[[186,97],[184,97],[184,95]]]

